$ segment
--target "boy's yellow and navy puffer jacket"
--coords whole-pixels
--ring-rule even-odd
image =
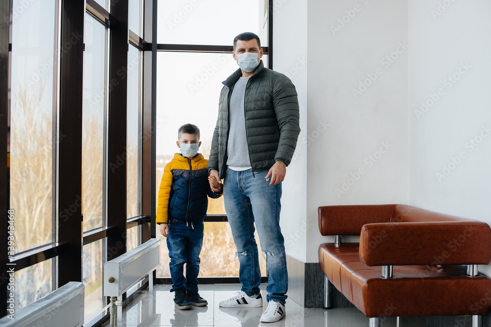
[[[159,188],[157,223],[166,223],[168,218],[187,222],[201,222],[206,217],[208,196],[218,198],[208,182],[208,160],[202,154],[192,158],[180,153],[164,168]]]

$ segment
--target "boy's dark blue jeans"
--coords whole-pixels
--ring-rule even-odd
[[[167,249],[170,257],[170,277],[174,292],[183,289],[188,293],[198,293],[199,254],[203,245],[203,222],[192,224],[169,218]],[[186,263],[186,278],[184,264]]]

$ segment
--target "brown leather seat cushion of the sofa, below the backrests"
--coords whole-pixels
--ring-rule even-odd
[[[319,247],[328,280],[367,317],[488,315],[491,280],[466,276],[463,265],[394,266],[383,279],[380,266],[359,257],[359,243]]]

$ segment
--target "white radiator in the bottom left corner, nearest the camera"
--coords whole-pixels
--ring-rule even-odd
[[[5,316],[2,327],[80,327],[83,325],[84,287],[70,281],[44,298],[14,313],[14,320]]]

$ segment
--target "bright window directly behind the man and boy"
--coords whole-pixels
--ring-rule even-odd
[[[166,45],[199,45],[195,51],[172,51],[157,54],[157,163],[156,196],[165,165],[179,152],[177,130],[185,123],[200,129],[202,142],[199,152],[208,159],[211,140],[217,122],[218,97],[224,81],[239,69],[232,57],[231,46],[236,35],[250,31],[268,46],[267,1],[210,0],[160,1],[158,8],[158,42]],[[237,22],[237,17],[247,19]],[[204,28],[206,26],[206,28]],[[209,46],[221,46],[219,52],[207,52]],[[182,47],[184,50],[185,48]],[[169,48],[170,50],[170,48]],[[216,48],[214,48],[217,51]],[[263,55],[268,67],[268,55]],[[209,199],[208,215],[225,215],[223,197]],[[167,244],[163,240],[158,277],[170,277]],[[258,237],[256,236],[258,240]],[[259,241],[257,242],[259,245]],[[259,248],[259,251],[261,249]],[[200,277],[236,277],[239,261],[230,227],[224,222],[205,221],[201,251]],[[266,261],[260,260],[261,272],[266,276]]]

